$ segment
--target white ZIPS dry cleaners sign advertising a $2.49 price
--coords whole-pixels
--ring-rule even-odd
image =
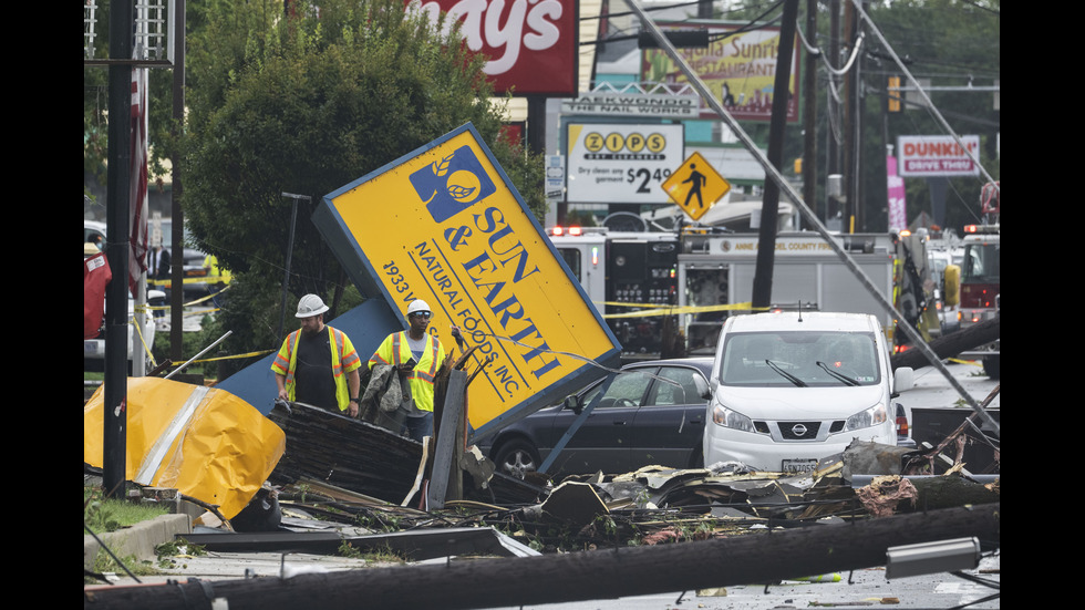
[[[685,156],[682,124],[569,124],[566,200],[666,204],[660,185]]]

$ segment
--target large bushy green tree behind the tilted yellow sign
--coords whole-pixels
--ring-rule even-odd
[[[267,308],[277,313],[283,275],[285,192],[311,197],[299,204],[294,297],[330,299],[345,282],[309,221],[320,198],[467,122],[541,217],[541,159],[500,137],[505,105],[488,103],[484,60],[457,32],[401,0],[322,0],[319,13],[296,1],[287,17],[278,0],[220,0],[205,17],[189,41],[184,205],[197,245],[234,272],[231,351],[281,340]]]

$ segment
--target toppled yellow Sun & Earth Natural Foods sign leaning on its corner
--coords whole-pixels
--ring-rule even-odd
[[[362,283],[401,317],[414,299],[426,301],[446,351],[456,347],[450,327],[459,327],[468,347],[478,345],[471,371],[492,360],[468,386],[478,433],[601,376],[590,361],[618,362],[613,334],[471,124],[324,205],[344,232],[338,246],[329,238],[333,249],[374,280]]]

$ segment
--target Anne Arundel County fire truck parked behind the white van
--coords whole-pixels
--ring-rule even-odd
[[[757,234],[561,227],[548,234],[622,344],[623,361],[711,355],[723,320],[750,312]],[[852,234],[835,239],[877,290],[896,303],[899,237]],[[896,325],[879,300],[813,231],[777,236],[772,296],[772,309],[871,313],[889,333]],[[921,323],[922,303],[912,311],[916,319],[910,321]]]

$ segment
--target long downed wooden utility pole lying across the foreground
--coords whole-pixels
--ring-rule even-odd
[[[495,608],[754,585],[886,564],[889,547],[976,537],[999,545],[1000,504],[673,545],[394,568],[117,587],[83,608]],[[495,577],[495,575],[500,575]],[[555,586],[560,583],[560,586]]]

